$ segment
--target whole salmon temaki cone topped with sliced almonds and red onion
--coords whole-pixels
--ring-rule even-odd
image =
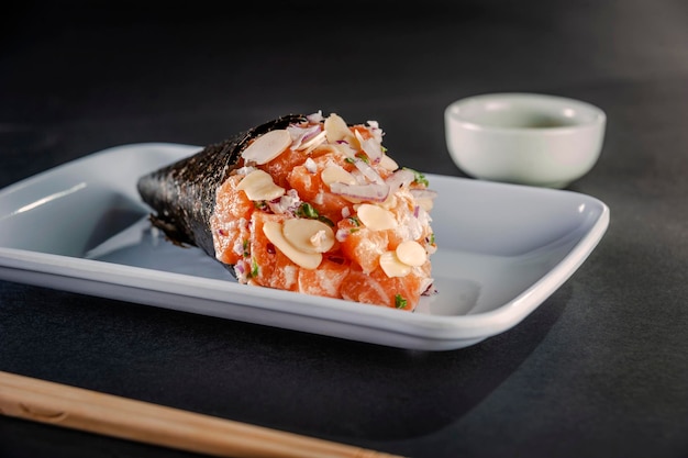
[[[138,180],[151,221],[240,283],[412,311],[434,292],[425,177],[375,121],[289,114]]]

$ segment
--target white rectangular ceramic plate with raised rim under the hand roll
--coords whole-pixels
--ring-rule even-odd
[[[373,344],[447,350],[502,333],[584,262],[609,225],[570,191],[430,175],[439,291],[415,312],[238,284],[147,222],[140,176],[200,149],[123,145],[0,191],[0,278]]]

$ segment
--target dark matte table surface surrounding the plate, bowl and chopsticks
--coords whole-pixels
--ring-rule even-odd
[[[317,110],[377,120],[400,163],[463,177],[444,108],[529,91],[607,112],[569,189],[611,222],[536,311],[463,349],[0,281],[0,370],[415,458],[688,456],[687,2],[56,3],[3,13],[0,187]],[[0,456],[193,455],[0,417]]]

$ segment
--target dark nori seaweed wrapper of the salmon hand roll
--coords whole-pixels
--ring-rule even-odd
[[[268,121],[141,177],[137,189],[154,211],[151,222],[173,242],[196,245],[214,258],[210,216],[215,190],[236,167],[252,138],[301,121],[306,115],[288,114]]]

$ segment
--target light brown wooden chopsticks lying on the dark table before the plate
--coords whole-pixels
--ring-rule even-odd
[[[3,371],[0,413],[219,457],[401,458]]]

